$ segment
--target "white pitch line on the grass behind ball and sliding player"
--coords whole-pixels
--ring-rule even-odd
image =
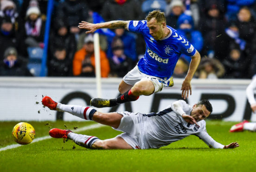
[[[77,129],[76,132],[80,132],[80,131],[84,131],[84,130],[88,130],[88,129],[97,129],[97,128],[104,127],[104,126],[105,125],[97,123],[97,124],[93,124],[93,125],[83,127],[81,129]],[[44,137],[39,137],[39,138],[34,139],[30,144],[38,142],[38,141],[43,141],[43,140],[46,140],[46,139],[51,139],[51,138],[52,137],[49,136],[49,135],[44,136]],[[5,151],[7,149],[13,149],[13,148],[20,147],[20,146],[25,146],[25,145],[13,144],[13,145],[9,145],[9,146],[0,148],[0,151]]]

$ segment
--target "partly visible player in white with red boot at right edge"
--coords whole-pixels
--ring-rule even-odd
[[[252,77],[252,81],[249,86],[246,88],[246,96],[250,103],[251,111],[256,113],[256,99],[254,97],[254,90],[256,89],[256,74]],[[249,121],[245,120],[242,123],[237,123],[233,125],[230,129],[230,132],[238,132],[238,131],[256,131],[256,123],[249,123]]]

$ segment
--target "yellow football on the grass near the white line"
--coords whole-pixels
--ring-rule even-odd
[[[29,123],[18,123],[13,127],[14,141],[20,145],[27,145],[35,138],[35,129]]]

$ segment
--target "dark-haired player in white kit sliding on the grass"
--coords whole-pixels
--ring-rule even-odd
[[[184,100],[173,102],[163,111],[157,113],[111,112],[102,113],[91,107],[67,105],[53,101],[45,96],[43,105],[51,110],[65,111],[85,120],[109,125],[124,133],[115,138],[100,140],[95,136],[80,135],[68,129],[51,129],[49,134],[54,138],[68,138],[77,145],[91,149],[147,149],[167,146],[189,135],[197,135],[209,147],[235,148],[239,144],[232,142],[222,145],[213,140],[206,132],[205,118],[212,112],[208,100],[199,101],[192,107]]]

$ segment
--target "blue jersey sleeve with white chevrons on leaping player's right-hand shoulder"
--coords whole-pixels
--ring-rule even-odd
[[[177,32],[173,33],[173,37],[175,37],[177,46],[179,47],[179,51],[182,54],[187,56],[194,56],[196,54],[196,49],[194,46],[186,39],[186,37],[179,35]]]

